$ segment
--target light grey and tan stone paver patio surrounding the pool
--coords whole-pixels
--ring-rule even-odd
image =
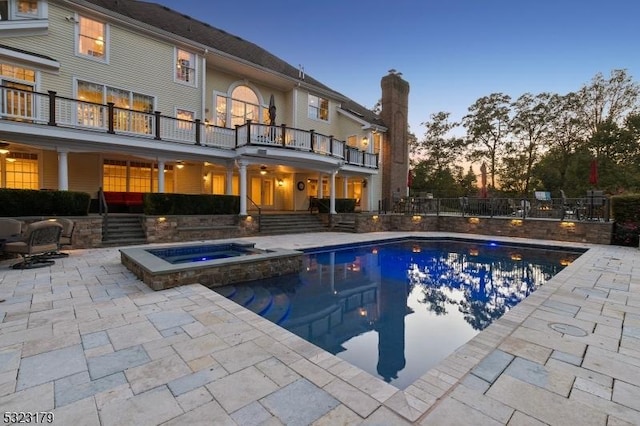
[[[404,391],[199,284],[154,292],[117,248],[42,269],[3,261],[0,411],[60,425],[640,424],[640,252],[570,246],[589,250]]]

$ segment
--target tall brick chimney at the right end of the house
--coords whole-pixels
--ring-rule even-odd
[[[407,193],[409,171],[409,83],[402,74],[390,70],[382,77],[382,111],[380,116],[387,126],[386,143],[382,146],[382,198],[389,201],[393,193]]]

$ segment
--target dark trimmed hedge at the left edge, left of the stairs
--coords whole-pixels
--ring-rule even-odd
[[[0,189],[0,216],[86,216],[86,192]]]

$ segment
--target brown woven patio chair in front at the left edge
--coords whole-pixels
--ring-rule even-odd
[[[58,249],[62,225],[49,220],[33,222],[27,226],[25,236],[20,241],[8,242],[4,252],[22,256],[22,261],[13,265],[13,269],[40,268],[55,263],[42,257]]]

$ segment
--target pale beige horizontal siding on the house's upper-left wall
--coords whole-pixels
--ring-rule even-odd
[[[156,98],[156,110],[174,115],[176,108],[201,111],[202,87],[173,81],[174,46],[110,24],[109,63],[75,54],[75,25],[65,20],[73,10],[49,4],[49,34],[3,38],[2,44],[17,49],[25,45],[34,53],[49,56],[60,64],[59,73],[43,72],[39,91],[55,89],[61,96],[74,95],[74,78],[142,93]],[[103,20],[96,17],[94,19]],[[194,52],[197,53],[197,52]],[[200,70],[199,70],[200,71]]]

